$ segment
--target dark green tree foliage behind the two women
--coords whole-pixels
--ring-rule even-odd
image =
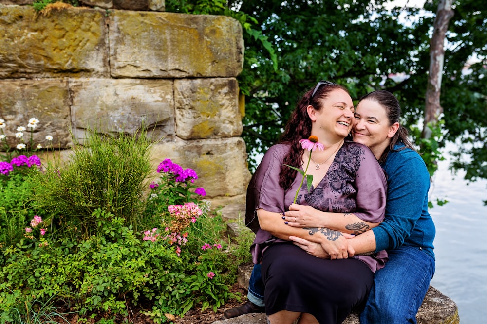
[[[438,0],[392,9],[384,0],[168,0],[166,6],[198,13],[189,7],[211,3],[217,10],[207,13],[247,23],[239,85],[246,96],[242,136],[251,170],[253,156],[279,140],[300,95],[323,79],[346,86],[354,100],[378,88],[393,92],[404,124],[421,143]],[[452,166],[465,169],[469,180],[487,178],[487,8],[481,0],[454,1],[452,8],[440,97],[444,123],[437,145],[429,147],[457,142]],[[395,79],[398,74],[405,78]]]

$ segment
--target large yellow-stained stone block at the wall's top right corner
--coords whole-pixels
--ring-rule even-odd
[[[113,77],[235,77],[243,68],[240,23],[225,16],[110,13]]]

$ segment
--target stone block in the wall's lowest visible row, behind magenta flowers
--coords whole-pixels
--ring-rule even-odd
[[[250,180],[245,142],[240,137],[192,141],[176,137],[155,144],[151,152],[155,167],[169,158],[183,169],[195,170],[195,185],[205,188],[206,198],[243,194]]]

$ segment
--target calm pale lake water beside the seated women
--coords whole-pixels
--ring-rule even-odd
[[[440,161],[430,197],[449,203],[430,209],[436,226],[436,272],[431,285],[458,306],[460,323],[487,323],[487,180],[468,184],[464,173],[454,179]]]

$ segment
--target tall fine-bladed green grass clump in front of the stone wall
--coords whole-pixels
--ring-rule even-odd
[[[150,174],[150,140],[137,135],[103,136],[88,132],[75,144],[70,160],[50,163],[38,177],[36,199],[63,231],[88,236],[99,231],[97,208],[137,228],[143,209],[145,179]]]

